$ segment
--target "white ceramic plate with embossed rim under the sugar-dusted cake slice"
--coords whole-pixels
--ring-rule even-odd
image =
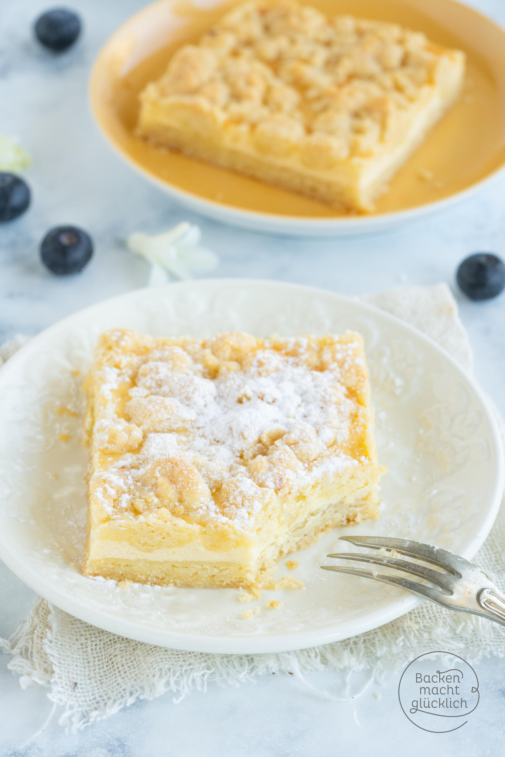
[[[80,575],[86,531],[81,382],[98,334],[123,326],[154,336],[242,329],[256,335],[363,334],[379,459],[388,466],[377,522],[341,528],[295,553],[303,590],[120,587]],[[67,407],[75,416],[62,412]],[[402,615],[416,597],[320,570],[338,537],[388,534],[471,558],[503,489],[503,451],[479,389],[415,329],[369,305],[309,287],[207,279],[141,289],[93,305],[30,341],[0,371],[0,557],[61,609],[116,634],[178,649],[260,653],[350,637]],[[287,575],[284,561],[279,577]],[[267,609],[271,599],[282,600]],[[247,620],[248,609],[260,610]]]

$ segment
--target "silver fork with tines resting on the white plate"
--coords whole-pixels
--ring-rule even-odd
[[[401,576],[376,570],[348,568],[345,565],[321,565],[323,570],[331,570],[335,573],[351,573],[351,575],[360,575],[364,578],[375,578],[376,581],[393,584],[414,594],[419,594],[421,597],[427,597],[443,607],[460,612],[472,612],[473,615],[482,615],[483,618],[505,625],[505,597],[483,570],[463,557],[448,550],[442,550],[440,547],[420,544],[419,541],[411,541],[410,539],[390,539],[376,536],[341,536],[340,538],[344,541],[350,541],[356,547],[394,550],[401,555],[429,562],[430,565],[437,565],[438,568],[447,572],[426,568],[416,562],[408,562],[395,557],[351,552],[327,556],[368,562],[372,565],[385,565],[389,568],[413,573],[418,578],[424,578],[439,588],[418,584],[416,581],[410,581],[409,578],[402,578]]]

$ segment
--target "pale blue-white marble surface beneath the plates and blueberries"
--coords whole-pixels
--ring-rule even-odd
[[[379,0],[378,0],[379,2]],[[472,251],[505,257],[505,176],[479,195],[436,217],[395,232],[361,238],[290,238],[245,232],[188,213],[132,173],[111,152],[89,114],[86,82],[101,44],[139,0],[73,0],[86,24],[83,39],[60,58],[33,42],[30,26],[45,9],[39,0],[0,4],[0,132],[20,137],[33,155],[26,177],[30,212],[0,228],[0,341],[36,334],[68,313],[145,285],[148,266],[129,254],[129,232],[159,232],[181,220],[198,223],[204,243],[220,255],[215,276],[282,279],[360,294],[405,284],[454,285],[457,263]],[[505,24],[503,0],[472,5]],[[42,267],[39,240],[51,226],[73,223],[95,240],[92,263],[58,279]],[[475,354],[475,375],[505,413],[505,296],[472,304],[455,294]],[[33,592],[0,565],[0,636],[26,617]],[[463,655],[464,656],[464,655]],[[0,657],[0,757],[129,757],[129,755],[386,755],[443,757],[503,754],[505,661],[479,662],[479,709],[452,734],[416,729],[397,702],[398,674],[369,684],[328,672],[268,676],[238,690],[209,687],[179,704],[170,696],[139,702],[70,735],[58,726],[43,689],[20,688]],[[325,698],[327,692],[331,698]],[[196,727],[195,727],[196,725]],[[42,729],[42,730],[41,730]],[[483,737],[485,734],[485,738]]]

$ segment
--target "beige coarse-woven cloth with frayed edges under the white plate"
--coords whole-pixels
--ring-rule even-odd
[[[466,369],[472,354],[457,315],[457,304],[444,284],[398,288],[363,298],[405,319],[438,341]],[[0,366],[23,343],[0,347]],[[502,424],[503,425],[503,424]],[[505,437],[504,437],[505,438]],[[475,562],[505,587],[505,507],[475,556]],[[179,701],[192,688],[235,684],[266,673],[396,670],[414,657],[447,650],[476,660],[505,654],[505,628],[472,615],[450,612],[426,602],[381,628],[351,639],[297,652],[216,655],[182,652],[133,641],[67,615],[38,598],[30,615],[0,646],[11,655],[8,667],[22,687],[48,687],[61,706],[61,724],[73,730],[108,718],[136,699],[170,691]]]

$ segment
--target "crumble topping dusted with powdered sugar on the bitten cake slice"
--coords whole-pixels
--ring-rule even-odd
[[[160,348],[139,339],[103,335],[103,364],[88,379],[101,462],[92,494],[111,518],[165,508],[187,522],[247,528],[274,494],[366,461],[358,335],[235,333]]]

